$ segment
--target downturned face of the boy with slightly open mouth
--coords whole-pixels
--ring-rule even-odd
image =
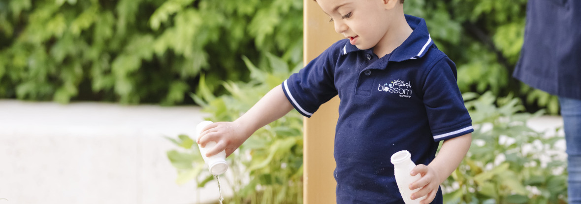
[[[387,35],[393,2],[399,0],[317,0],[335,31],[359,49],[370,49]]]

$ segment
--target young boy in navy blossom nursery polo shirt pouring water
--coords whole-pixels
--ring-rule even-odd
[[[317,0],[340,40],[272,89],[233,122],[206,127],[207,155],[234,152],[254,131],[295,108],[310,117],[338,95],[334,177],[338,203],[403,203],[393,153],[407,150],[422,178],[411,199],[442,203],[439,185],[471,144],[472,121],[456,84],[456,65],[436,48],[424,19],[403,0]],[[440,141],[444,141],[435,156]]]

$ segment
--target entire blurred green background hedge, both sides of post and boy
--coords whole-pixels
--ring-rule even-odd
[[[458,66],[462,92],[514,95],[529,112],[558,113],[555,96],[511,77],[527,0],[414,0],[436,44]],[[241,56],[302,60],[302,0],[0,2],[0,98],[194,103],[200,76],[249,81]]]

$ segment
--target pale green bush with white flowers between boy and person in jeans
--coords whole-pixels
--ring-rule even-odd
[[[444,203],[565,203],[566,162],[555,147],[564,138],[526,126],[543,112],[517,113],[519,99],[496,100],[491,92],[474,98],[464,95],[475,127],[472,146],[443,184]]]

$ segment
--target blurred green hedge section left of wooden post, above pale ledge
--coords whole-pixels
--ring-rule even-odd
[[[200,73],[247,78],[241,55],[299,62],[302,3],[2,1],[0,98],[181,103]]]

